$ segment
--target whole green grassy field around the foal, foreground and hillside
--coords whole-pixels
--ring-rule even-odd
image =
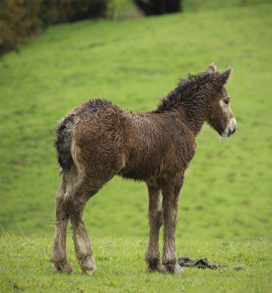
[[[82,274],[68,234],[75,270],[72,277],[54,274],[48,260],[60,184],[56,121],[98,97],[133,111],[154,109],[179,78],[212,62],[219,70],[234,68],[227,88],[238,130],[221,139],[204,126],[197,137],[180,197],[177,252],[207,256],[229,268],[186,269],[182,277],[146,273],[146,187],[116,177],[84,213],[97,273]],[[0,62],[1,291],[269,292],[271,62],[272,5],[263,1],[56,25],[19,54],[5,55]],[[235,271],[236,265],[245,270]]]

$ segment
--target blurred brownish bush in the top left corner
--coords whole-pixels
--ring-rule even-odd
[[[108,0],[1,0],[0,53],[20,44],[49,24],[103,17]]]

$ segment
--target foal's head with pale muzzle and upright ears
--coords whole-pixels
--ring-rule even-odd
[[[213,76],[214,88],[207,121],[221,136],[229,137],[237,129],[236,120],[230,108],[230,96],[225,88],[232,68],[229,67],[225,72],[221,73],[216,71],[216,66],[212,63],[207,71]]]

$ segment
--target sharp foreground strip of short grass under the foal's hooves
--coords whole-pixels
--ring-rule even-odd
[[[271,244],[267,241],[178,241],[178,255],[207,256],[228,268],[185,268],[182,275],[148,273],[143,260],[146,238],[94,237],[98,270],[89,277],[75,260],[68,241],[71,275],[49,263],[52,238],[7,236],[0,240],[0,291],[23,292],[270,292]],[[30,265],[31,264],[31,265]],[[240,266],[243,270],[236,271]]]

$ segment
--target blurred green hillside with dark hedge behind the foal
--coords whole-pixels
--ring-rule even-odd
[[[186,173],[177,237],[271,237],[272,2],[2,0],[0,223],[53,235],[56,122],[88,99],[146,111],[215,62],[238,130],[207,125]],[[113,178],[87,204],[89,234],[148,235],[145,184]]]

